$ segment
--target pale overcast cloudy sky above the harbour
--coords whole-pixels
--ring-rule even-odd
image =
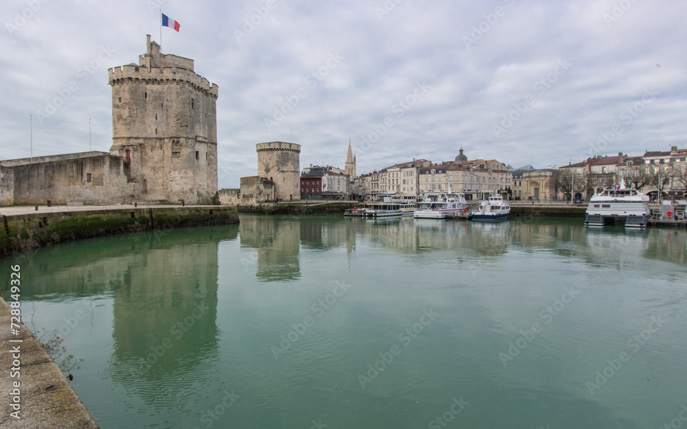
[[[219,86],[220,187],[255,144],[359,174],[415,157],[515,167],[686,147],[684,0],[3,0],[0,159],[109,150],[107,69],[159,42]]]

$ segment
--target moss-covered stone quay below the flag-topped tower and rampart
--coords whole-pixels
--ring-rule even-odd
[[[238,223],[236,207],[112,205],[0,207],[0,257],[81,240],[139,231]]]

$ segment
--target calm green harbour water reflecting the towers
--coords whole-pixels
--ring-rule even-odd
[[[687,427],[686,231],[582,223],[242,216],[0,275],[103,429]]]

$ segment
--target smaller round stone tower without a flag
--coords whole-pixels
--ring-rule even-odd
[[[300,145],[271,141],[258,143],[258,176],[275,185],[275,198],[300,200]]]

